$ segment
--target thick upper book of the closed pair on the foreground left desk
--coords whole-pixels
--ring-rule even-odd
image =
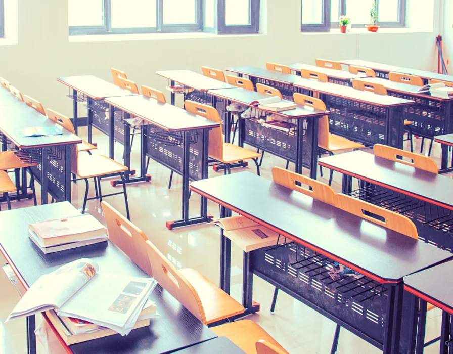
[[[41,247],[97,239],[107,235],[107,228],[90,214],[34,223],[30,224],[28,229],[34,232]]]

